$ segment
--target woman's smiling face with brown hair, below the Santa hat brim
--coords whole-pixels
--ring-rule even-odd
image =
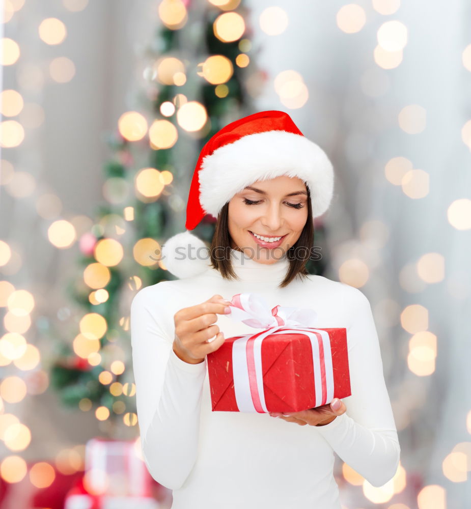
[[[261,264],[271,264],[286,256],[289,269],[280,284],[283,288],[296,276],[308,274],[306,263],[313,238],[309,187],[301,179],[285,175],[257,181],[234,195],[221,209],[211,242],[211,263],[230,279],[237,276],[230,258],[219,256],[220,248],[243,251]]]

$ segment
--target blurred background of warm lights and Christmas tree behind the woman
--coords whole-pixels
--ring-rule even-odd
[[[157,255],[184,229],[203,144],[263,109],[333,161],[311,270],[361,289],[380,338],[401,463],[375,488],[337,458],[344,508],[471,503],[470,14],[464,0],[5,0],[2,509],[92,507],[106,490],[170,506],[151,479],[124,482],[143,478],[129,304],[172,278]],[[212,218],[198,229],[209,241]],[[128,470],[107,485],[112,457]]]

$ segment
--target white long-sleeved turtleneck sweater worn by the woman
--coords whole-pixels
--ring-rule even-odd
[[[358,289],[322,276],[280,289],[289,262],[260,264],[231,250],[240,280],[208,268],[161,281],[131,304],[131,344],[143,456],[154,479],[173,490],[172,509],[340,509],[334,453],[373,486],[396,473],[400,446],[371,307]],[[299,426],[269,414],[211,410],[207,359],[173,351],[174,315],[215,294],[261,294],[275,305],[312,308],[319,328],[347,328],[351,396],[325,426]],[[255,333],[217,315],[225,337]]]

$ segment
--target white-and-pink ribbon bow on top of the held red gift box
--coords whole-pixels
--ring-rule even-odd
[[[256,327],[315,327],[317,313],[314,309],[274,306],[270,309],[265,299],[254,293],[238,293],[231,299],[231,316],[234,320]]]

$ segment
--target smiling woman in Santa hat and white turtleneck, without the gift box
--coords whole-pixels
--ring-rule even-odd
[[[143,455],[173,490],[173,509],[340,509],[334,452],[373,486],[396,473],[400,446],[368,299],[304,268],[313,218],[332,194],[330,161],[284,112],[233,122],[203,148],[186,228],[217,217],[210,260],[199,239],[177,234],[163,254],[181,279],[144,288],[131,305]],[[291,415],[211,411],[206,356],[226,337],[256,332],[226,316],[232,296],[247,292],[270,308],[312,308],[319,328],[345,327],[351,396]]]

